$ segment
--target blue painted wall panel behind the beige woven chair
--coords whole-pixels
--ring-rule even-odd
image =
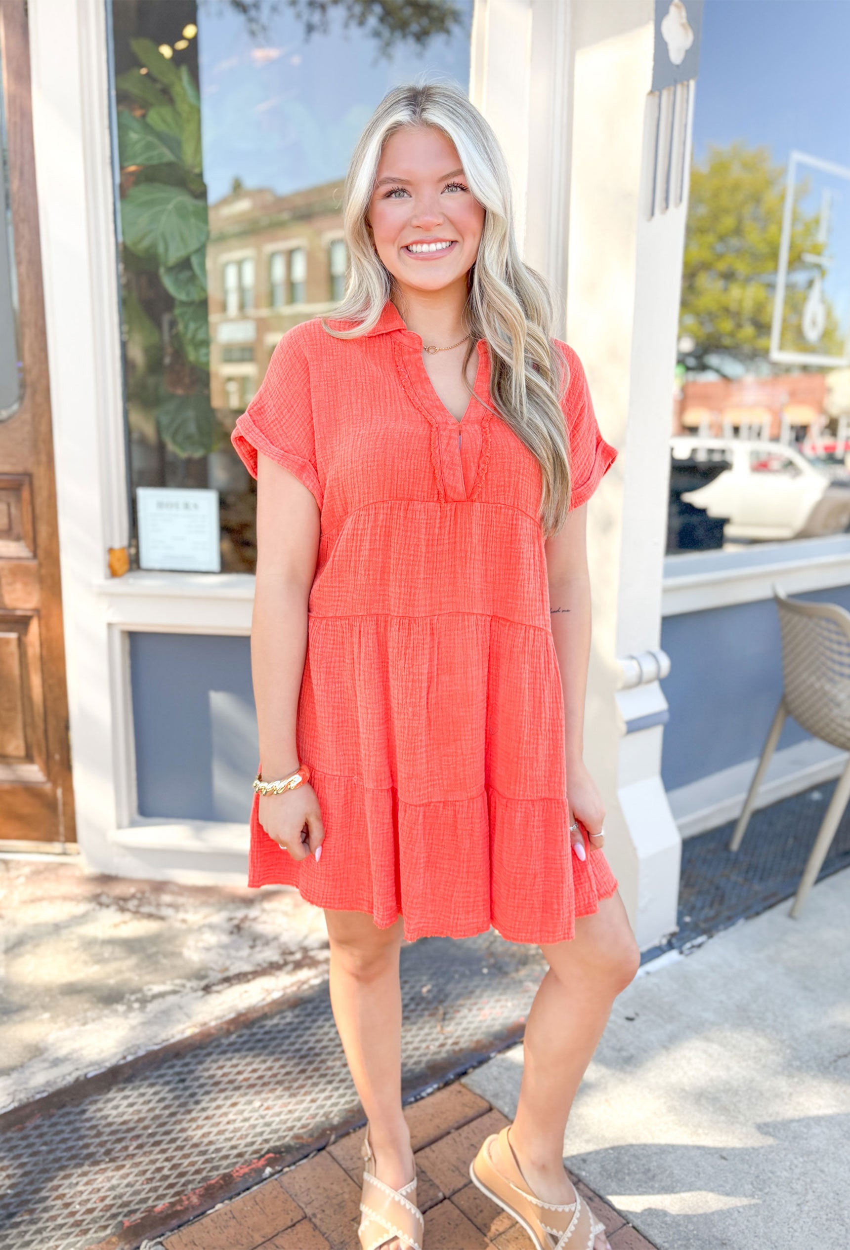
[[[850,610],[850,586],[794,598]],[[670,705],[661,762],[666,789],[760,755],[782,692],[774,601],[668,616],[661,646],[671,661],[661,682]],[[788,721],[779,749],[808,736]]]

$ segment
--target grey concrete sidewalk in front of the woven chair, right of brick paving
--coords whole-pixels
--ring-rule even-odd
[[[618,999],[565,1140],[571,1171],[660,1250],[844,1250],[850,1229],[850,871]],[[515,1046],[465,1085],[514,1115]]]

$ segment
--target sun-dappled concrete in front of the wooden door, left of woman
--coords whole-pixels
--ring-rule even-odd
[[[0,859],[0,1111],[328,976],[296,890],[86,874]]]

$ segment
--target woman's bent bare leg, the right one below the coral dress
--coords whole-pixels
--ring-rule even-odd
[[[618,994],[640,955],[619,894],[580,916],[572,941],[542,946],[549,962],[525,1029],[525,1066],[510,1142],[525,1179],[545,1202],[571,1202],[564,1132],[576,1090]],[[600,1234],[594,1250],[605,1250]]]

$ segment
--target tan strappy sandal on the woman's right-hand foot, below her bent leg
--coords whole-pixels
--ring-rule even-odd
[[[474,1185],[512,1215],[535,1250],[592,1250],[605,1225],[576,1190],[575,1202],[542,1202],[520,1171],[508,1128],[488,1138],[469,1168]]]

